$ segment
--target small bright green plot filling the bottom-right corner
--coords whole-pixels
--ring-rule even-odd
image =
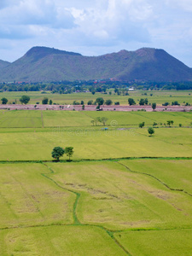
[[[128,231],[115,234],[132,256],[190,256],[192,230]]]

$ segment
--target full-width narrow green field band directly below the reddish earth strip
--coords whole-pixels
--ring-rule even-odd
[[[39,111],[39,110],[1,110],[0,128],[46,128],[46,127],[90,127],[101,126],[100,122],[92,124],[91,120],[98,117],[107,118],[106,125],[115,128],[121,125],[138,127],[145,125],[165,126],[167,120],[173,120],[173,126],[182,124],[192,126],[191,112],[96,112],[96,111]],[[0,131],[1,132],[1,131]]]

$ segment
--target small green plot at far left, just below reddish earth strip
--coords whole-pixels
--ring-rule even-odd
[[[1,111],[0,127],[42,127],[41,112],[31,110]]]

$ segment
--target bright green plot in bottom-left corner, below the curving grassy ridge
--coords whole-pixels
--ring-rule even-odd
[[[126,253],[105,230],[85,226],[0,231],[1,255],[119,255]]]

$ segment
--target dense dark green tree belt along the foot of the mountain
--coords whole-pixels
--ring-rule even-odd
[[[192,82],[147,82],[147,81],[111,81],[111,80],[90,80],[90,81],[59,81],[50,83],[2,83],[0,91],[41,91],[49,90],[52,93],[68,94],[73,92],[90,91],[110,94],[113,90],[117,95],[129,95],[129,87],[137,90],[192,90]]]

